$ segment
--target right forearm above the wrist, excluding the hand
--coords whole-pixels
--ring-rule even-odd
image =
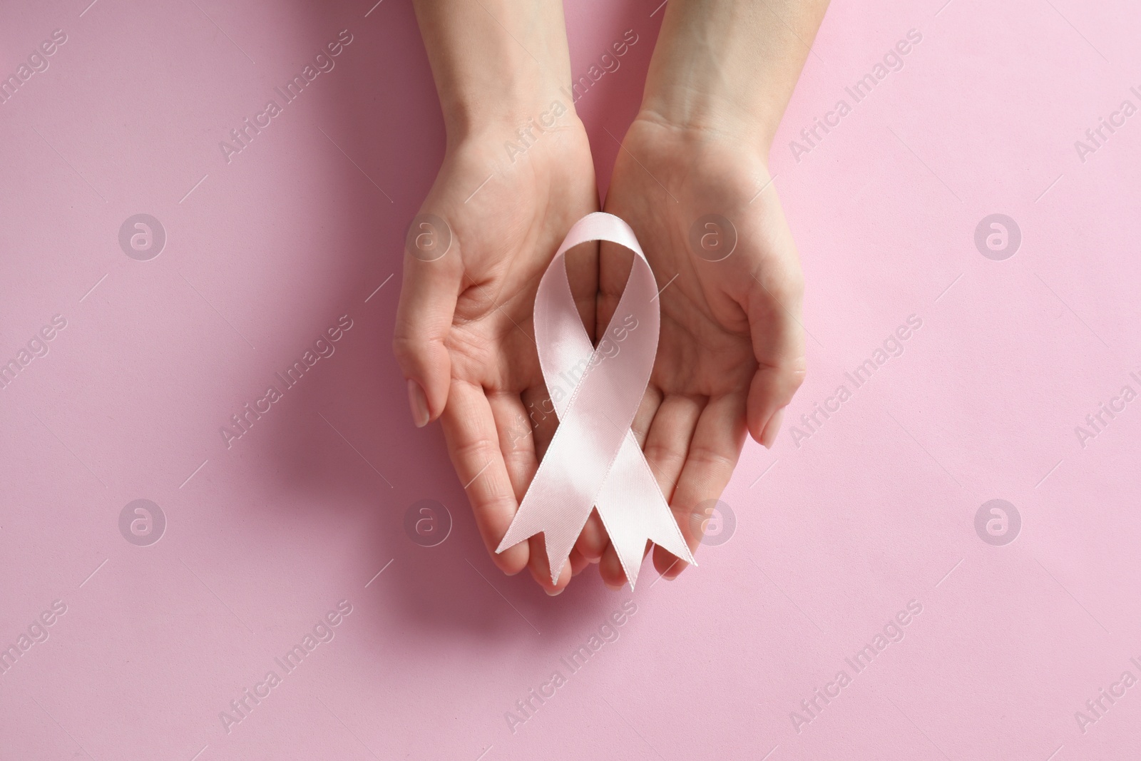
[[[768,155],[828,0],[670,0],[642,112]]]

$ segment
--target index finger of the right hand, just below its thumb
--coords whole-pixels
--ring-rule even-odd
[[[690,552],[702,541],[703,525],[694,516],[706,500],[721,496],[745,444],[745,399],[729,394],[711,399],[702,411],[670,509]],[[675,578],[688,566],[659,547],[654,548],[654,567],[666,578]]]

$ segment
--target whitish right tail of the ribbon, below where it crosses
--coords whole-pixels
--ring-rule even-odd
[[[598,495],[598,515],[631,590],[638,581],[647,540],[674,557],[697,565],[633,436],[623,439],[614,467],[602,484]]]

